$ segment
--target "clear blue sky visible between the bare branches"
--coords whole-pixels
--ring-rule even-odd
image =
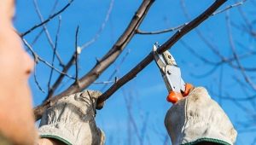
[[[68,1],[60,1],[55,11],[61,9],[67,2]],[[106,17],[111,2],[112,1],[110,0],[74,0],[72,5],[61,14],[58,52],[64,62],[67,63],[73,54],[76,27],[79,26],[78,44],[81,46],[90,41],[91,38],[94,38],[96,32],[98,32],[102,26],[102,22]],[[184,2],[186,3],[186,8],[191,18],[195,18],[198,14],[201,14],[204,9],[207,9],[207,7],[213,3],[213,1],[203,0],[196,1],[196,3],[192,0],[185,0]],[[253,17],[253,14],[255,15],[255,10],[253,10],[253,8],[255,8],[255,3],[253,2],[248,1],[241,6],[241,9],[247,15],[249,21],[255,19]],[[38,5],[44,19],[51,14],[51,9],[54,3],[55,1],[53,0],[38,0]],[[96,43],[91,44],[90,47],[84,49],[79,56],[79,76],[88,72],[90,68],[96,64],[96,58],[101,58],[102,55],[108,52],[108,49],[112,47],[113,43],[119,38],[122,32],[124,32],[125,27],[128,26],[132,15],[135,13],[140,3],[142,2],[137,0],[119,0],[113,2],[112,12],[106,26],[100,33],[100,37],[96,40]],[[221,9],[224,9],[233,3],[236,2],[229,1],[225,3]],[[207,41],[218,48],[220,54],[225,57],[230,57],[232,56],[232,53],[230,51],[229,35],[227,33],[225,20],[226,14],[227,13],[224,12],[212,16],[201,24],[201,26],[198,27],[198,30]],[[244,26],[245,22],[237,8],[230,9],[229,14],[232,23],[237,26]],[[19,32],[25,32],[39,21],[32,0],[19,0],[17,2],[15,27]],[[53,40],[55,40],[58,21],[57,17],[47,24],[50,36]],[[179,26],[188,21],[189,20],[183,14],[180,1],[158,0],[154,2],[151,9],[148,11],[140,29],[151,32]],[[234,26],[232,26],[231,30],[239,54],[244,54],[249,50],[255,50],[255,38],[250,38],[246,32],[236,29]],[[33,38],[35,38],[40,31],[41,28],[38,28],[28,34],[26,40],[29,43],[32,43]],[[132,38],[131,43],[126,46],[124,52],[119,56],[119,59],[115,61],[96,81],[101,82],[108,80],[109,75],[113,73],[116,67],[119,67],[119,71],[115,76],[119,78],[122,77],[148,55],[152,50],[154,42],[157,41],[160,44],[163,44],[172,36],[172,34],[173,32],[160,35],[136,35]],[[199,55],[211,61],[220,61],[219,57],[214,55],[211,49],[207,47],[207,44],[201,40],[195,31],[189,32],[189,34],[183,38],[183,42],[193,48]],[[241,47],[241,44],[245,45],[246,48]],[[38,55],[42,56],[46,61],[51,61],[52,50],[50,49],[45,34],[43,34],[38,39],[38,42],[33,45],[33,49],[35,49]],[[128,51],[130,53],[125,58],[125,62],[119,66],[122,58]],[[195,84],[195,86],[207,87],[211,92],[212,98],[217,102],[221,102],[224,111],[228,114],[231,121],[236,126],[236,129],[238,129],[236,144],[251,144],[255,138],[255,132],[251,130],[256,129],[255,121],[253,121],[253,116],[255,116],[255,100],[253,99],[250,102],[239,102],[247,108],[245,110],[238,107],[236,105],[237,103],[220,100],[216,96],[226,96],[227,94],[230,94],[230,96],[233,97],[246,97],[246,93],[244,93],[245,91],[247,91],[248,96],[254,95],[254,90],[251,90],[246,85],[245,88],[241,88],[240,84],[234,79],[238,78],[242,82],[245,82],[241,75],[241,71],[233,69],[228,64],[224,64],[218,66],[214,69],[214,72],[209,75],[201,77],[201,75],[209,71],[211,72],[214,66],[198,59],[198,57],[191,54],[191,52],[180,42],[172,47],[171,52],[176,58],[177,64],[181,67],[184,81]],[[255,57],[252,55],[243,59],[241,63],[246,67],[254,67],[254,61]],[[57,65],[58,64],[55,63],[55,66]],[[74,67],[72,67],[68,73],[74,75]],[[253,73],[248,73],[248,75],[253,76]],[[57,76],[58,73],[54,73],[54,78]],[[42,88],[47,91],[49,67],[39,63],[37,66],[37,78]],[[71,83],[73,83],[73,80],[66,78],[61,89],[58,90],[56,94],[67,88]],[[33,77],[30,79],[30,84],[32,87],[34,105],[36,106],[44,100],[45,94],[38,90],[38,86],[35,84]],[[110,84],[108,87],[109,86]],[[89,89],[101,90],[102,84],[91,84]],[[143,72],[139,73],[136,78],[131,80],[128,84],[125,84],[124,87],[113,94],[108,102],[106,102],[105,107],[97,112],[96,121],[107,135],[107,144],[128,144],[128,135],[130,131],[130,143],[139,144],[136,129],[134,126],[131,126],[131,124],[128,124],[129,113],[126,106],[127,100],[131,103],[130,111],[133,119],[135,119],[137,132],[139,136],[144,139],[144,144],[164,144],[166,130],[163,122],[166,111],[171,107],[171,104],[166,102],[166,96],[167,90],[160,76],[160,71],[154,63],[151,63],[143,70]],[[240,124],[241,121],[248,123],[248,120],[252,120],[250,124]]]

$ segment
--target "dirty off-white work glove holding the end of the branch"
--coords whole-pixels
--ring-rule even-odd
[[[84,90],[62,97],[44,112],[38,133],[72,145],[100,145],[105,142],[103,131],[96,127],[96,100],[101,93]]]

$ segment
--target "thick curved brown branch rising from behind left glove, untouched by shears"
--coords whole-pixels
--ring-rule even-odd
[[[76,84],[71,85],[67,90],[61,92],[60,95],[50,98],[48,101],[42,103],[38,107],[34,108],[34,115],[36,119],[40,119],[45,109],[50,106],[50,104],[55,103],[62,96],[71,95],[75,92],[83,90],[92,84],[100,74],[105,71],[112,63],[117,59],[120,53],[125,49],[125,46],[133,38],[138,26],[143,21],[143,18],[148,13],[148,9],[154,3],[154,0],[144,0],[139,9],[137,9],[136,14],[133,16],[129,26],[126,28],[125,32],[121,35],[118,41],[113,44],[112,49],[108,51],[106,55],[103,56],[102,60],[96,63],[96,66],[93,67],[89,73],[85,74],[84,77],[80,78],[80,87]]]

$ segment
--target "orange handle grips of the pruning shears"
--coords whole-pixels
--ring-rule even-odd
[[[188,96],[189,92],[193,89],[194,86],[192,84],[185,84],[185,91],[183,93],[171,91],[169,92],[169,95],[167,96],[166,100],[167,102],[172,102],[174,104],[177,101],[181,100],[184,96]]]

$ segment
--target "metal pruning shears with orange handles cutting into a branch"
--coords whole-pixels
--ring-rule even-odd
[[[171,53],[166,50],[163,54],[159,54],[157,51],[160,48],[158,43],[153,46],[154,61],[160,68],[162,78],[165,81],[166,88],[169,91],[167,96],[167,102],[176,103],[184,96],[189,95],[189,91],[194,89],[192,84],[186,84],[181,77],[180,68],[177,67],[177,63]]]

